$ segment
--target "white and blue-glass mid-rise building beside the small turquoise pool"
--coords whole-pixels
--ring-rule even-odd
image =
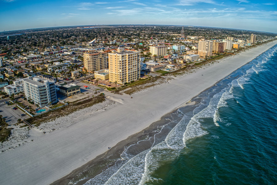
[[[23,80],[25,97],[34,101],[39,107],[57,103],[55,82],[34,76]]]

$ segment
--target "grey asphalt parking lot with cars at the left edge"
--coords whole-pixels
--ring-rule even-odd
[[[0,110],[3,111],[0,114],[3,116],[3,118],[6,118],[6,122],[9,125],[13,125],[13,124],[17,123],[18,119],[23,120],[23,119],[29,118],[27,115],[22,117],[21,114],[23,114],[23,112],[20,111],[19,109],[14,110],[14,109],[12,109],[13,107],[15,107],[15,105],[8,106],[5,103],[0,105]]]

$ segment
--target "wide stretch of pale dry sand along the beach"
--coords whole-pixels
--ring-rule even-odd
[[[215,65],[173,79],[151,91],[110,95],[117,102],[97,114],[82,114],[72,124],[47,134],[33,134],[33,142],[0,153],[1,184],[49,184],[104,153],[108,147],[135,134],[164,114],[184,105],[191,98],[253,60],[277,41],[253,48]],[[202,76],[203,74],[203,76]],[[90,109],[87,109],[90,110]],[[82,119],[84,118],[85,119]],[[71,120],[65,118],[66,121]]]

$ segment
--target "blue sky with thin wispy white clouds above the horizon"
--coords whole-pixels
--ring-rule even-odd
[[[0,7],[0,31],[145,23],[277,33],[274,0],[0,0]]]

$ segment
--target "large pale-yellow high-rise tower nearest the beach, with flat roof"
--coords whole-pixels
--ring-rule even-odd
[[[118,48],[109,53],[109,79],[124,84],[140,77],[140,52]]]

